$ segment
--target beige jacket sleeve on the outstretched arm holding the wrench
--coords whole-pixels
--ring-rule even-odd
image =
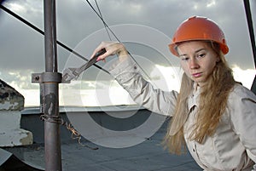
[[[177,92],[166,92],[154,88],[151,83],[143,79],[139,67],[131,58],[115,62],[109,72],[138,105],[143,105],[149,111],[172,116],[177,101]]]

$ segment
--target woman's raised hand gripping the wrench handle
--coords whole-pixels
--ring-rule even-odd
[[[128,52],[122,43],[118,42],[102,42],[91,54],[92,58],[97,52],[99,52],[102,48],[106,49],[106,53],[98,56],[97,61],[105,60],[110,55],[117,54],[119,56],[119,60],[125,60],[128,57]]]

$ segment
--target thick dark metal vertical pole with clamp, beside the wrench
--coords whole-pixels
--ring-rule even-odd
[[[55,0],[44,0],[44,53],[43,112],[45,171],[61,171],[61,134],[59,115],[60,74],[57,73]]]

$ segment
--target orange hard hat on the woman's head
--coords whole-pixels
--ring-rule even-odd
[[[172,43],[169,48],[172,54],[177,54],[177,43],[192,40],[210,40],[220,45],[220,49],[224,54],[228,54],[229,47],[226,44],[224,32],[212,20],[206,17],[193,16],[177,27],[177,31],[172,37]]]

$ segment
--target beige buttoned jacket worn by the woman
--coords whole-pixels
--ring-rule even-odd
[[[177,92],[154,89],[139,74],[139,67],[131,59],[116,62],[109,71],[138,104],[172,117]],[[190,95],[189,115],[184,123],[184,138],[191,156],[204,170],[252,170],[256,162],[256,96],[237,84],[230,93],[228,109],[216,133],[199,144],[188,140],[189,128],[195,122],[199,94],[198,88]]]

